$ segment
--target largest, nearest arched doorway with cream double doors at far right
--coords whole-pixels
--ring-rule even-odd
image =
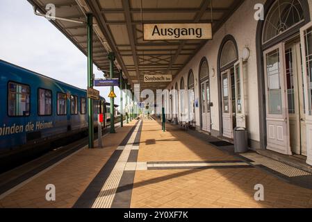
[[[309,21],[307,1],[269,0],[257,27],[261,145],[286,155],[306,156],[312,136]]]

